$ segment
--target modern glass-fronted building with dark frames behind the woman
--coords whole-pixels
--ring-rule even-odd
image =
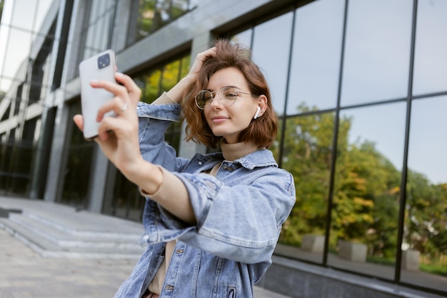
[[[0,194],[140,221],[136,187],[73,124],[78,64],[114,49],[151,102],[225,37],[271,85],[272,151],[296,183],[264,286],[446,295],[446,15],[445,0],[0,0]],[[209,151],[180,124],[166,141]]]

